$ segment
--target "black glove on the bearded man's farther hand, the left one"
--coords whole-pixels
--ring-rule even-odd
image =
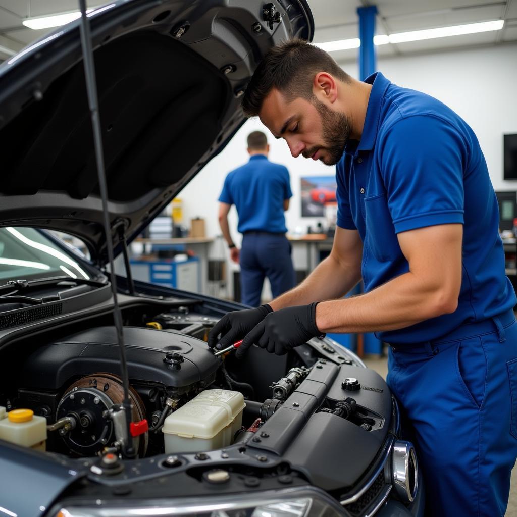
[[[260,323],[270,312],[271,307],[261,305],[255,309],[243,309],[225,314],[208,333],[208,346],[214,348],[218,343],[218,348],[226,348],[233,345],[257,324]],[[218,339],[221,334],[221,339]]]

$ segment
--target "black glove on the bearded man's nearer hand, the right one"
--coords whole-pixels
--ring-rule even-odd
[[[235,357],[244,356],[252,344],[266,348],[271,354],[284,355],[291,348],[321,336],[322,332],[316,327],[317,303],[271,312],[246,335]]]

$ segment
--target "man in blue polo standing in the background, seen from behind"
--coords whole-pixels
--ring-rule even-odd
[[[250,161],[224,180],[219,196],[219,224],[230,248],[230,257],[240,262],[241,301],[257,307],[265,277],[269,279],[273,297],[295,285],[284,218],[293,193],[287,169],[267,159],[269,145],[262,131],[248,135],[248,153]],[[232,205],[239,217],[240,250],[233,242],[228,225]]]

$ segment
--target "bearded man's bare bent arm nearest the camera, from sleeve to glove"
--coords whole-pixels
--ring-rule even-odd
[[[322,332],[372,332],[409,327],[458,307],[462,278],[461,224],[398,235],[409,271],[362,296],[318,303]]]

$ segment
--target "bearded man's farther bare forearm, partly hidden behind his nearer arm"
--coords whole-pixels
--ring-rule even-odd
[[[270,302],[269,306],[276,311],[313,301],[341,298],[360,279],[360,264],[340,263],[330,255],[300,285]]]

